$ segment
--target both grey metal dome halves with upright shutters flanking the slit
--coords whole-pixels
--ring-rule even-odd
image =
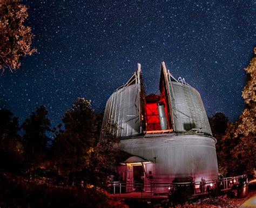
[[[118,124],[113,132],[117,137],[134,136],[140,133],[140,65],[126,85],[115,91],[106,103],[103,127],[108,119]],[[171,103],[173,130],[176,133],[187,133],[192,128],[200,128],[201,133],[212,135],[201,97],[190,85],[171,79],[171,74],[162,64],[162,72],[167,86],[167,99]],[[142,112],[143,113],[143,112]],[[143,129],[147,130],[147,129]]]

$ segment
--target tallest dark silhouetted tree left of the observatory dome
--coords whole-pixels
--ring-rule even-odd
[[[71,181],[79,181],[79,172],[89,163],[88,158],[93,151],[96,136],[95,113],[91,101],[78,98],[67,110],[63,123],[64,130],[56,134],[53,142],[56,168]]]

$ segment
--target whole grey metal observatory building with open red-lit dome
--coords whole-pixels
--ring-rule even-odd
[[[216,140],[198,91],[184,79],[176,80],[164,62],[159,91],[159,95],[146,95],[138,64],[137,72],[106,103],[103,127],[109,119],[117,123],[113,135],[120,138],[120,150],[129,155],[117,167],[126,192],[134,191],[136,183],[218,178]],[[152,187],[145,185],[144,190],[152,191]]]

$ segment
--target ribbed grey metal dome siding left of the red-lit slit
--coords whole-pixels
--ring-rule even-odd
[[[106,103],[103,126],[108,119],[118,124],[118,129],[113,131],[117,137],[139,134],[139,106],[138,86],[136,84],[123,87],[114,92]]]

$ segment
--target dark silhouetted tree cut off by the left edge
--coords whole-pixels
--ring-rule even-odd
[[[0,161],[1,168],[19,172],[22,167],[23,146],[18,135],[18,117],[10,110],[0,110]]]

